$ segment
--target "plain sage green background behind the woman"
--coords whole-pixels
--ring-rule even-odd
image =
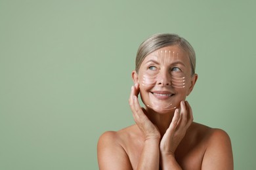
[[[101,133],[133,124],[140,42],[177,33],[197,54],[194,120],[256,169],[255,1],[0,0],[0,169],[98,169]]]

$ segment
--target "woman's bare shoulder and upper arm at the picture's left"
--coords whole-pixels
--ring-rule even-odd
[[[106,131],[100,135],[97,145],[99,169],[131,169],[129,157],[123,147],[123,141],[128,134],[127,128]]]

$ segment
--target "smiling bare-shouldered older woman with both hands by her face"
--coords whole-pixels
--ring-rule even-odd
[[[129,97],[136,124],[101,135],[100,169],[233,169],[228,135],[193,122],[186,96],[198,78],[195,66],[192,46],[178,35],[140,44]]]

